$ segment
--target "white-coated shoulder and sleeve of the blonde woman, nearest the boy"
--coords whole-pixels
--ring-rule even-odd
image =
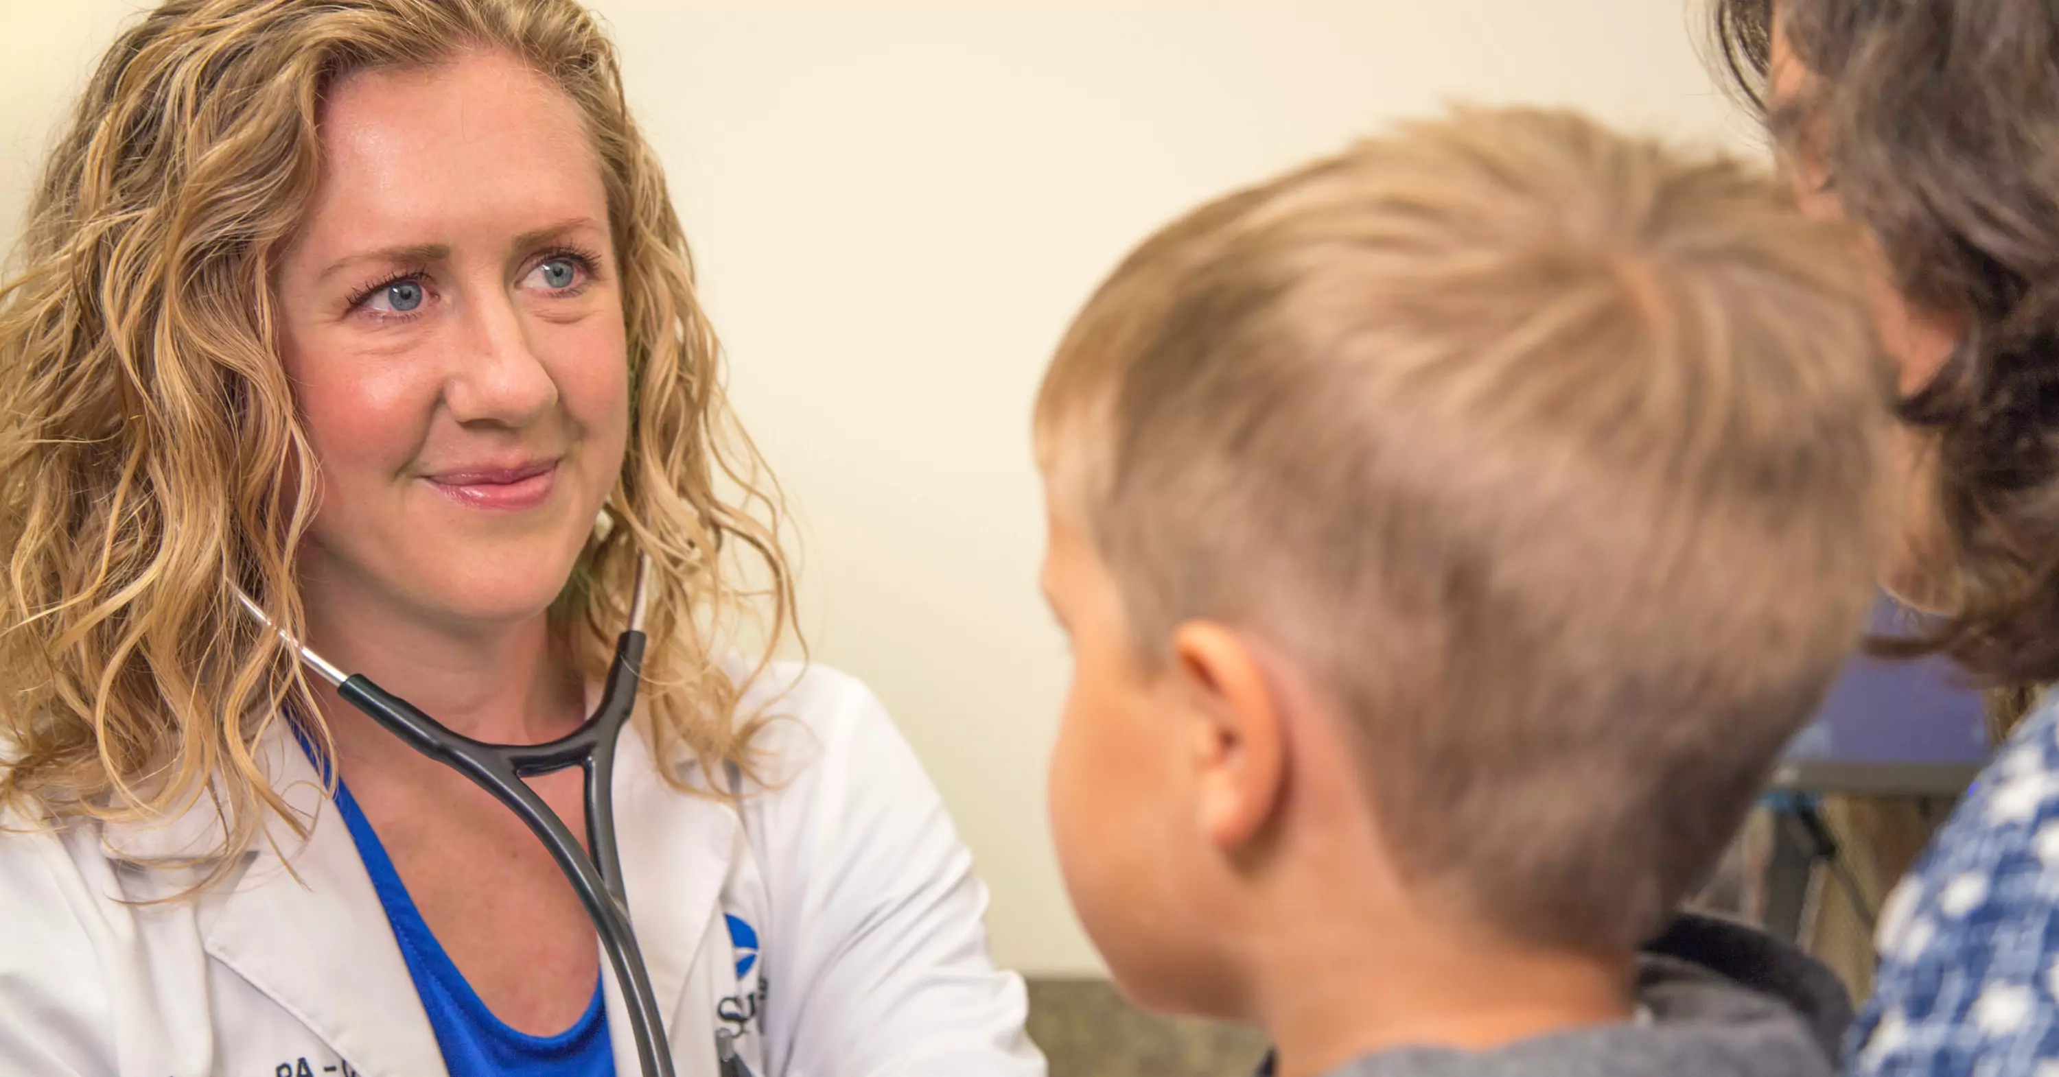
[[[745,704],[768,719],[739,809],[770,1071],[1042,1075],[986,888],[885,706],[819,665],[768,669]]]

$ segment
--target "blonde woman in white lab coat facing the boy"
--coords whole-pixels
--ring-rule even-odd
[[[0,1073],[632,1073],[546,850],[237,591],[544,743],[638,562],[616,836],[679,1073],[1042,1073],[879,704],[733,657],[791,620],[776,498],[572,0],[142,16],[0,288]],[[585,838],[577,770],[529,787]]]

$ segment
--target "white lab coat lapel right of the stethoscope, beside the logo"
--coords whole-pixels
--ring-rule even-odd
[[[622,883],[628,894],[630,927],[642,947],[651,991],[667,1021],[667,1040],[682,1077],[712,1073],[712,1017],[682,1007],[688,978],[706,960],[708,923],[717,916],[723,879],[735,857],[739,832],[731,805],[679,793],[659,774],[651,745],[638,725],[622,733],[616,756],[616,840],[622,850]],[[682,764],[692,772],[694,764]],[[605,968],[605,958],[603,958]],[[607,1019],[614,1032],[616,1071],[636,1073],[636,1050],[622,1009],[620,991],[609,984]]]

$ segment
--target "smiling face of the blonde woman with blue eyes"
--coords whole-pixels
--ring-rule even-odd
[[[579,109],[513,58],[342,78],[276,276],[334,595],[449,624],[544,612],[628,439],[628,346]]]

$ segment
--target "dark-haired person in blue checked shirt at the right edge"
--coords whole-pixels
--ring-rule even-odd
[[[1995,700],[1997,762],[1880,927],[1857,1073],[2059,1056],[2059,4],[1717,0],[1814,212],[1874,239],[1903,369],[1890,587]],[[2038,1071],[2043,1073],[2043,1071]]]

